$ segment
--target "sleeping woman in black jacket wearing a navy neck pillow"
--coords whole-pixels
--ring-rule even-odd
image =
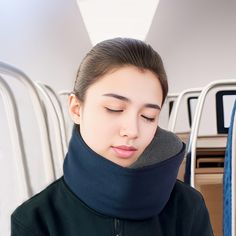
[[[12,235],[213,235],[200,193],[176,181],[185,145],[158,127],[167,91],[144,42],[92,48],[69,98],[64,175],[15,210]]]

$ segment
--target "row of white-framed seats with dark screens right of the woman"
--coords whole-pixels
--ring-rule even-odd
[[[203,88],[170,94],[160,117],[160,126],[176,133],[187,144],[185,159],[178,177],[203,194],[214,235],[219,236],[229,228],[224,216],[228,208],[232,210],[230,227],[234,229],[231,230],[232,234],[224,235],[235,235],[235,165],[232,164],[232,168],[225,169],[226,156],[231,153],[232,162],[236,158],[234,152],[227,150],[228,146],[226,149],[227,139],[232,140],[233,150],[236,145],[235,135],[228,135],[229,129],[236,130],[231,118],[235,115],[235,100],[236,80],[214,81]],[[233,187],[232,191],[226,194],[227,188],[223,186],[226,181],[223,180],[228,175],[232,177],[230,184]],[[228,195],[232,199],[231,205],[223,204],[226,202],[225,199],[229,198]]]

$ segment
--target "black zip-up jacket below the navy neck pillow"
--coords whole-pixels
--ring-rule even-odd
[[[12,236],[211,236],[199,192],[176,181],[161,213],[144,220],[100,214],[83,203],[60,178],[18,207],[11,217]]]

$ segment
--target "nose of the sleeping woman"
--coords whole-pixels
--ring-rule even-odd
[[[123,125],[120,129],[120,136],[127,137],[129,139],[135,139],[138,137],[138,120],[137,117],[126,118],[123,121]]]

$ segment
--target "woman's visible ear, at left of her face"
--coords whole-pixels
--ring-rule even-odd
[[[81,102],[75,96],[75,94],[69,95],[69,113],[71,119],[75,124],[80,124],[81,119]]]

